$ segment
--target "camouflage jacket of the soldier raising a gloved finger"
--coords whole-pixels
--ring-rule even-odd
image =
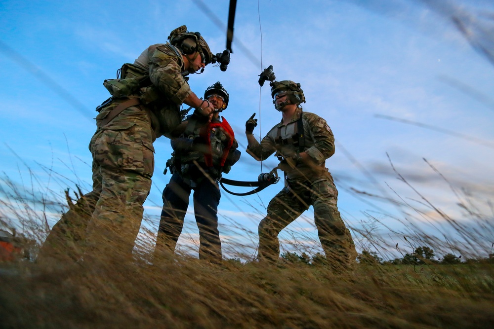
[[[305,136],[303,151],[309,154],[315,166],[293,161],[293,157],[300,152],[297,139],[300,114]],[[274,152],[279,159],[286,159],[292,165],[292,169],[285,172],[289,180],[310,180],[328,171],[325,161],[334,154],[334,136],[325,119],[299,108],[288,125],[284,125],[282,120],[271,128],[260,144],[256,142],[256,145],[247,147],[247,153],[259,160],[265,160]]]

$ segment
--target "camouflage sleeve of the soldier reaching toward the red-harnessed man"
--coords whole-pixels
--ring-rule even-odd
[[[175,104],[182,104],[192,92],[180,74],[181,67],[182,58],[166,46],[156,48],[149,59],[151,82]]]

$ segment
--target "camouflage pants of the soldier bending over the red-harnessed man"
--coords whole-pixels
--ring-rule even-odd
[[[131,256],[154,171],[151,127],[135,120],[112,129],[92,137],[93,190],[53,226],[41,257],[77,258],[82,246],[88,258]]]

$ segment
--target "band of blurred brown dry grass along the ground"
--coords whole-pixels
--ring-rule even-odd
[[[494,328],[494,267],[0,265],[1,328]]]

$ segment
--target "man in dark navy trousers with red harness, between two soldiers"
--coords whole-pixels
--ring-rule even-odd
[[[155,260],[175,250],[182,232],[189,196],[194,190],[194,214],[199,228],[199,258],[219,263],[221,241],[218,231],[218,181],[240,158],[232,128],[219,113],[228,107],[229,95],[220,82],[206,89],[204,99],[215,108],[209,121],[189,117],[184,133],[173,139],[173,157],[168,165],[173,176],[163,191]]]

